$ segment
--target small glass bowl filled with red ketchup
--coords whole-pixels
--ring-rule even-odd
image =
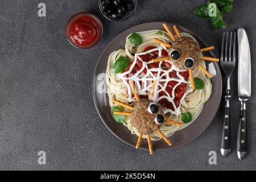
[[[95,46],[100,41],[102,33],[101,20],[88,12],[73,15],[65,27],[68,42],[82,49]]]

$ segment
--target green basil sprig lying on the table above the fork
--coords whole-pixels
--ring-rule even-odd
[[[214,3],[216,5],[216,16],[210,16],[209,11],[211,11],[210,4]],[[193,10],[193,14],[200,16],[201,18],[212,18],[212,29],[216,30],[218,27],[223,29],[226,28],[226,23],[223,20],[224,13],[231,13],[233,10],[233,0],[213,0],[213,2],[207,1],[206,5],[201,5]]]

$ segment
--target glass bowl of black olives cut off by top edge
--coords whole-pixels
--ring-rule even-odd
[[[109,20],[122,22],[133,15],[137,0],[99,0],[101,13]]]

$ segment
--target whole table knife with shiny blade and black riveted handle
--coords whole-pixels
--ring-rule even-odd
[[[247,34],[243,28],[237,30],[238,40],[238,98],[241,111],[237,131],[237,156],[245,159],[247,153],[246,101],[251,96],[251,56]]]

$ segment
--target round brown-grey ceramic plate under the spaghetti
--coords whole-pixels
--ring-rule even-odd
[[[143,23],[137,26],[131,27],[128,30],[122,32],[117,37],[115,37],[112,42],[104,49],[101,53],[100,58],[96,64],[94,69],[93,75],[93,99],[96,105],[98,114],[100,115],[102,121],[108,127],[108,129],[119,139],[123,142],[130,144],[131,146],[135,147],[137,143],[137,135],[133,135],[130,133],[130,130],[127,129],[126,126],[122,125],[121,123],[117,123],[112,118],[110,113],[110,106],[109,106],[109,98],[108,94],[106,93],[99,93],[97,92],[97,88],[100,86],[102,87],[102,83],[106,87],[105,77],[102,76],[102,73],[106,72],[107,61],[110,53],[115,51],[119,48],[125,47],[125,40],[126,36],[129,35],[131,32],[138,32],[138,31],[146,31],[146,30],[154,30],[154,29],[163,29],[162,24],[165,22],[151,22],[151,23]],[[174,24],[168,23],[169,27],[172,27]],[[180,32],[187,32],[194,36],[197,42],[200,45],[200,48],[207,47],[208,45],[195,33],[178,26]],[[204,53],[205,56],[213,56],[212,52]],[[152,147],[154,151],[159,150],[171,150],[173,148],[183,146],[188,142],[191,142],[193,139],[198,137],[212,122],[214,115],[218,110],[218,106],[220,105],[221,100],[221,92],[222,92],[222,81],[221,81],[221,73],[220,68],[218,67],[218,63],[210,62],[207,63],[207,69],[210,73],[212,73],[213,77],[210,79],[213,85],[213,92],[212,96],[209,100],[205,103],[204,109],[201,111],[199,117],[191,123],[191,125],[185,127],[184,129],[177,131],[173,134],[169,139],[172,141],[172,146],[168,146],[164,140],[158,140],[156,142],[152,142]],[[148,150],[147,140],[143,139],[141,143],[141,147],[144,150]]]

